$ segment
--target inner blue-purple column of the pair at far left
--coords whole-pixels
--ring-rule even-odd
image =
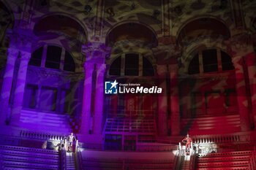
[[[26,85],[26,72],[28,69],[30,57],[31,53],[20,51],[20,66],[18,69],[18,77],[10,120],[12,125],[18,125],[20,121],[20,111],[23,105],[23,95]]]

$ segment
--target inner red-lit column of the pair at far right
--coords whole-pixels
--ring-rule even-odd
[[[238,112],[240,114],[241,131],[250,131],[248,99],[244,77],[243,61],[240,57],[233,58],[236,69],[236,95],[238,100]]]

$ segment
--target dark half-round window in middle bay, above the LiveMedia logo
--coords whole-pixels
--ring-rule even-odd
[[[138,53],[118,56],[110,66],[110,75],[114,76],[154,76],[154,68],[147,58]]]

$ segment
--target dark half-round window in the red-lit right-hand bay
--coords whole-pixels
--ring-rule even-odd
[[[219,49],[199,51],[190,61],[189,74],[208,72],[223,72],[233,70],[234,66],[230,55]]]

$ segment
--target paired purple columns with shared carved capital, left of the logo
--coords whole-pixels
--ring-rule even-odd
[[[86,55],[86,77],[80,133],[84,136],[83,142],[102,144],[104,63],[110,48],[102,42],[88,42],[82,51]]]

